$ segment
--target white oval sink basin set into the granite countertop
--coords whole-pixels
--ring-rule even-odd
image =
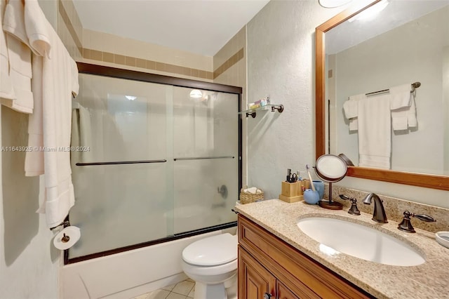
[[[297,222],[300,230],[320,243],[323,253],[345,253],[363,260],[394,266],[415,266],[425,262],[422,254],[401,240],[354,222],[310,217]]]

